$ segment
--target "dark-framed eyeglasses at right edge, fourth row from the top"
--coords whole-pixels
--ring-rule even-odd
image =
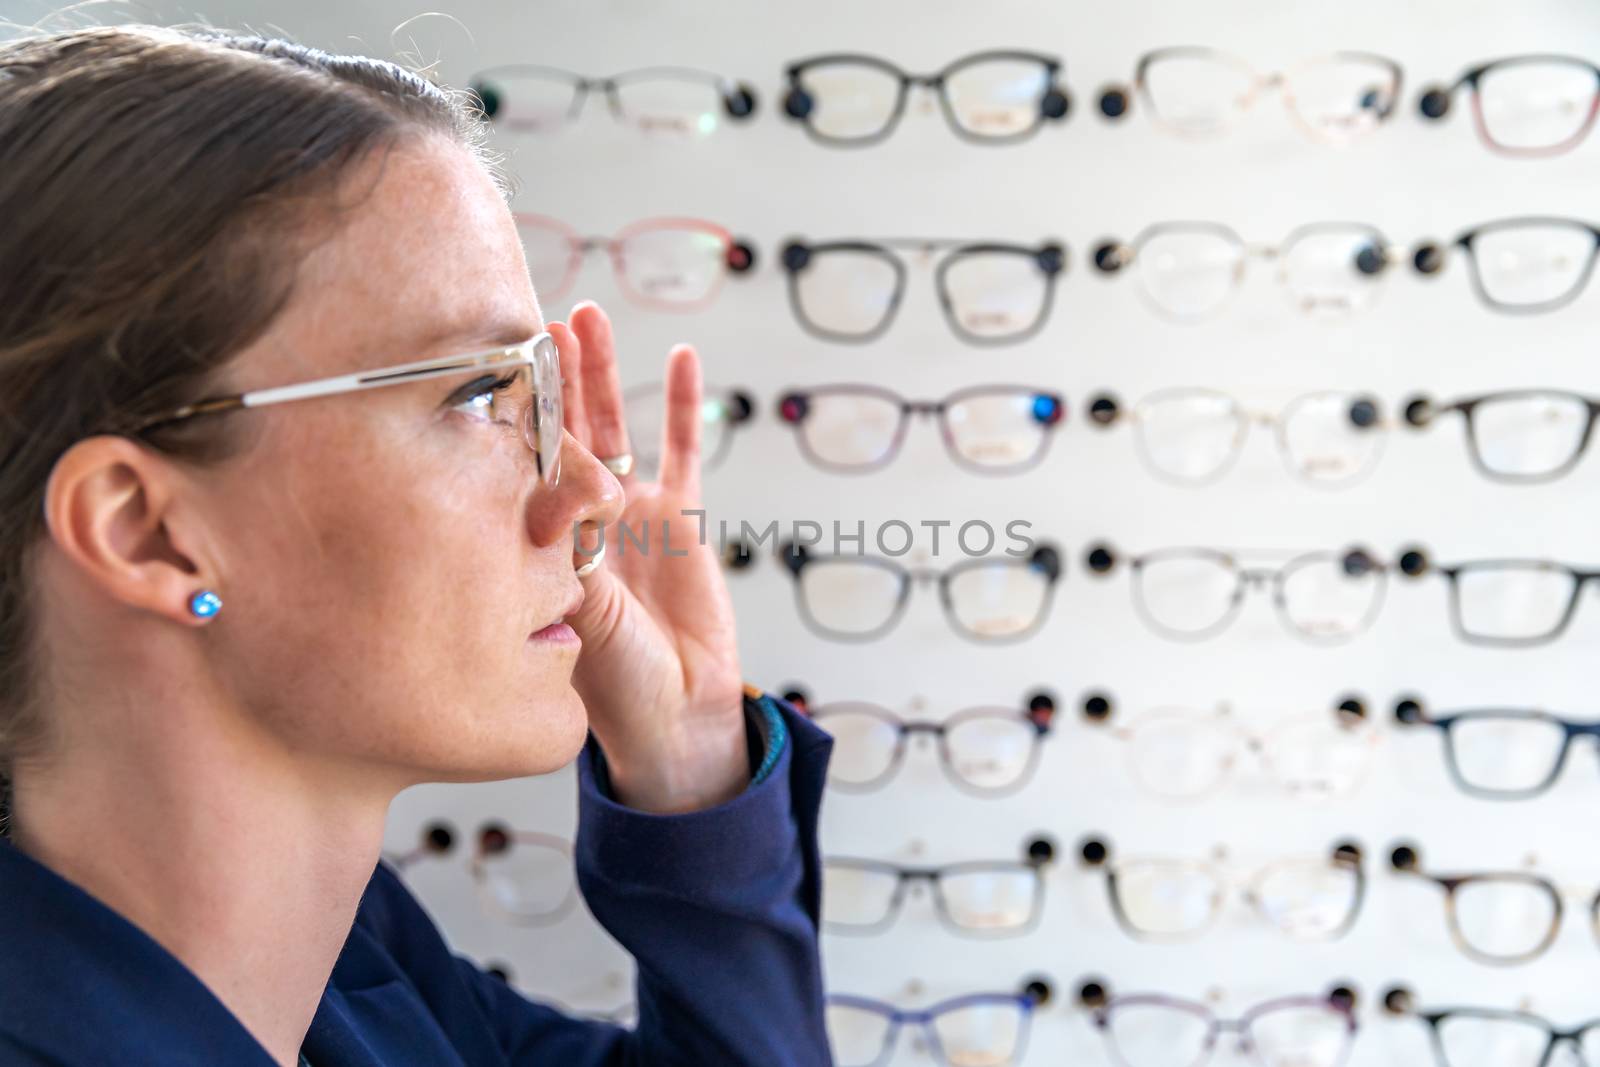
[[[1408,577],[1440,574],[1450,582],[1450,621],[1472,645],[1528,648],[1557,640],[1578,614],[1578,595],[1600,571],[1555,560],[1434,563],[1421,549],[1400,557]]]

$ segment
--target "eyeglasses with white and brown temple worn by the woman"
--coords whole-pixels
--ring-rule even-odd
[[[533,451],[539,478],[549,486],[560,482],[562,357],[549,333],[498,349],[400,363],[354,374],[334,374],[293,386],[208,397],[176,411],[142,419],[125,432],[130,437],[146,437],[202,416],[435,379],[467,379],[466,384],[443,398],[445,406],[515,432]]]

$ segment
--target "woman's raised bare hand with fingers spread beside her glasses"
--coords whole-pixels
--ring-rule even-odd
[[[630,454],[611,323],[579,304],[552,323],[568,432],[602,461]],[[722,803],[750,781],[733,605],[717,550],[701,544],[701,371],[690,346],[667,357],[658,482],[618,475],[621,523],[568,619],[584,648],[574,685],[618,798],[645,811]],[[648,531],[648,533],[646,533]],[[709,537],[707,537],[709,541]],[[670,545],[670,555],[667,553]],[[592,536],[584,547],[594,549]],[[574,560],[586,557],[579,552]]]

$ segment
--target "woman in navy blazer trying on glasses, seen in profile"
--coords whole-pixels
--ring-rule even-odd
[[[696,355],[635,483],[606,320],[541,322],[478,131],[283,42],[0,46],[0,1062],[829,1061],[829,742],[741,688],[682,517]],[[688,555],[589,555],[618,520]],[[574,758],[637,1032],[378,864],[406,785]]]

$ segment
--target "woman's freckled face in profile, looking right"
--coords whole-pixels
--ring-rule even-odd
[[[467,150],[427,138],[378,152],[339,203],[230,389],[544,328],[512,216]],[[522,437],[464,403],[467,381],[227,416],[251,421],[248,446],[192,475],[219,539],[219,677],[299,755],[485,779],[550,771],[582,744],[578,643],[533,635],[582,597],[573,523],[621,490],[570,437],[560,485],[541,486]]]

